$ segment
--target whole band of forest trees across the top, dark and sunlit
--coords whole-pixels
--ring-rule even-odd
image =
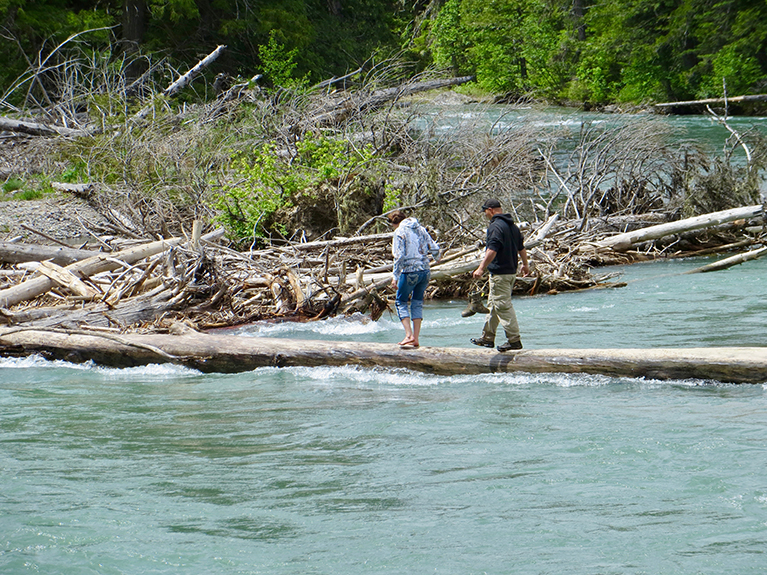
[[[767,90],[765,0],[0,0],[0,84],[85,30],[89,49],[217,71],[280,57],[319,81],[398,54],[492,93],[643,102]],[[271,42],[271,48],[269,47]],[[274,78],[266,78],[274,81]]]

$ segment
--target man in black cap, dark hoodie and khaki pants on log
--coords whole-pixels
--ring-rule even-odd
[[[520,259],[522,275],[530,273],[522,232],[511,219],[511,214],[503,213],[498,200],[492,198],[486,200],[482,204],[482,211],[490,220],[487,226],[485,257],[482,258],[472,276],[481,278],[485,270],[490,273],[490,294],[487,298],[490,315],[482,328],[482,337],[472,339],[471,343],[483,347],[494,347],[495,332],[500,324],[506,332],[506,343],[499,345],[498,351],[522,349],[517,315],[514,313],[514,306],[511,305],[511,290],[517,278]]]

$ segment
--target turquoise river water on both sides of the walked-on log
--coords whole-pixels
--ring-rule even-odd
[[[682,274],[703,263],[517,298],[523,342],[767,345],[767,260]],[[422,344],[469,346],[464,303],[427,305]],[[239,334],[394,345],[401,327]],[[764,573],[766,391],[0,359],[0,573]]]

